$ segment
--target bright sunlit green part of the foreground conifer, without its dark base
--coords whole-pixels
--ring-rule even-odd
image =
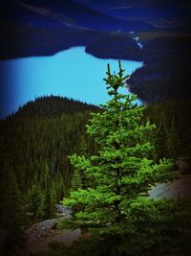
[[[129,218],[128,207],[133,201],[148,196],[158,182],[172,178],[172,163],[160,160],[154,164],[148,156],[153,146],[149,132],[155,128],[141,121],[145,106],[135,105],[137,96],[123,95],[127,76],[118,62],[119,71],[112,74],[108,64],[106,81],[109,102],[102,111],[92,114],[87,133],[98,145],[96,155],[89,157],[73,154],[71,163],[76,170],[94,179],[93,187],[78,188],[71,192],[64,204],[76,209],[76,218],[93,222],[121,222]]]

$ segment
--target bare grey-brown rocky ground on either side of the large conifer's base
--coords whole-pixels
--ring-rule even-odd
[[[149,194],[152,198],[186,198],[191,200],[191,175],[180,175],[179,179],[169,184],[158,184]],[[56,224],[60,219],[71,218],[71,209],[60,204],[55,206],[57,210],[55,219],[35,223],[25,230],[28,238],[28,252],[47,251],[51,242],[70,245],[84,236],[79,228],[75,230],[56,229]]]

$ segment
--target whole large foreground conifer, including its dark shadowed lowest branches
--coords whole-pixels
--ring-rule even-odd
[[[120,62],[117,75],[111,74],[108,65],[105,81],[111,100],[92,115],[87,126],[87,133],[96,141],[96,154],[70,157],[75,170],[94,184],[72,190],[63,203],[72,207],[76,223],[96,227],[92,234],[98,232],[106,241],[114,239],[116,254],[110,251],[108,255],[147,255],[158,250],[162,254],[160,247],[167,249],[180,236],[185,227],[181,222],[189,214],[175,200],[148,197],[152,186],[175,177],[173,162],[151,158],[155,126],[143,122],[145,107],[134,104],[136,96],[118,92],[126,79],[123,73]],[[163,127],[161,124],[158,130]]]

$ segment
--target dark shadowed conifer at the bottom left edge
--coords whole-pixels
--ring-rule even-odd
[[[26,212],[11,161],[5,164],[3,171],[0,180],[0,253],[11,255],[12,250],[22,243]]]

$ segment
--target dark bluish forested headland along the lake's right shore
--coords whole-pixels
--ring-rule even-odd
[[[144,65],[130,78],[130,90],[146,102],[190,99],[190,37],[156,38],[144,43]]]

